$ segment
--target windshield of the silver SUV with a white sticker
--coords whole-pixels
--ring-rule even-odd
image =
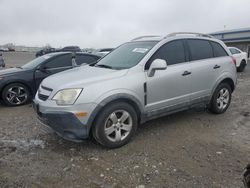
[[[102,58],[95,66],[118,70],[129,69],[137,65],[156,43],[157,41],[125,43]]]

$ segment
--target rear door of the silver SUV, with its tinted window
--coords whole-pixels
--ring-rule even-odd
[[[208,40],[187,39],[186,44],[192,67],[191,103],[200,103],[210,98],[211,91],[223,70],[223,62],[225,61],[223,55],[219,56],[223,52],[225,55],[227,53],[218,43]],[[223,51],[220,52],[218,49],[214,51],[215,48]]]

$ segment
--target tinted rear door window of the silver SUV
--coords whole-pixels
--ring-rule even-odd
[[[213,58],[213,49],[208,41],[189,39],[187,43],[190,49],[191,60]]]

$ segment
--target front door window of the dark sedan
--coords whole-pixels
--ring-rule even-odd
[[[72,66],[71,56],[69,54],[56,56],[45,65],[47,69],[69,67],[69,66]]]

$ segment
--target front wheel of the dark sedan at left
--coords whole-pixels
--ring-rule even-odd
[[[20,106],[31,100],[31,93],[25,85],[13,83],[3,89],[2,99],[7,106]]]

